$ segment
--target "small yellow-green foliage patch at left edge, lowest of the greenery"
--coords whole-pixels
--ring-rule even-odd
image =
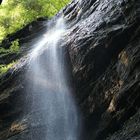
[[[12,63],[9,63],[7,65],[0,65],[0,76],[3,75],[4,73],[6,73],[10,68],[12,68],[12,66],[16,64],[16,61],[13,61]]]

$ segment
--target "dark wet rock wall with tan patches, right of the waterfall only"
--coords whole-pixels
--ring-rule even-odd
[[[75,24],[67,46],[87,140],[105,139],[139,108],[139,6],[96,0],[65,10]]]

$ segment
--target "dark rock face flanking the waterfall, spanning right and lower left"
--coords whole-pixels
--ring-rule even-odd
[[[69,25],[62,46],[83,114],[83,139],[140,139],[140,2],[74,0],[61,14]],[[1,77],[1,140],[40,140],[45,133],[41,121],[32,119],[39,111],[34,115],[24,107],[30,99],[22,80],[27,60],[22,55]]]

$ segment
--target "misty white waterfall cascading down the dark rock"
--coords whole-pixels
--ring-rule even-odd
[[[45,137],[39,140],[78,140],[79,116],[68,86],[64,57],[60,47],[66,31],[63,18],[47,31],[30,56],[30,92],[32,110],[42,110]],[[38,122],[36,122],[38,123]]]

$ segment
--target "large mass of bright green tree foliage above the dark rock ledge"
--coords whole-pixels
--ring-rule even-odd
[[[4,0],[0,6],[0,42],[39,17],[52,17],[69,0]]]

